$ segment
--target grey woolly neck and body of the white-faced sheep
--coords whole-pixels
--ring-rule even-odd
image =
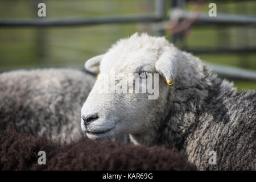
[[[197,57],[180,54],[187,68],[176,76],[154,125],[131,137],[177,148],[201,170],[256,170],[256,92],[238,92]],[[209,162],[211,151],[216,164]]]

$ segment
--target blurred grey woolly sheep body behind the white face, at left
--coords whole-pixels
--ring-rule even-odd
[[[75,69],[34,69],[0,74],[0,130],[34,137],[82,137],[80,110],[95,77]]]

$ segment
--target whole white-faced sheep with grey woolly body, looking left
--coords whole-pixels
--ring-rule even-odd
[[[136,144],[177,148],[199,169],[256,169],[255,91],[238,92],[199,58],[147,34],[119,40],[85,67],[100,73],[81,110],[90,139],[129,133]],[[100,94],[113,71],[115,92]],[[145,88],[150,73],[160,74],[152,81],[159,85],[157,99],[122,92],[127,80]]]

